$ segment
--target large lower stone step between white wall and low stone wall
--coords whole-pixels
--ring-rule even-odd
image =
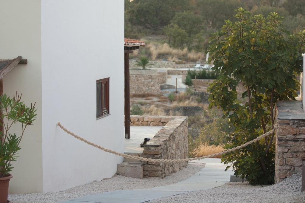
[[[143,179],[143,163],[122,162],[117,165],[117,175]]]

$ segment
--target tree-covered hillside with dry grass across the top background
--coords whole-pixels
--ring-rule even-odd
[[[137,58],[204,60],[210,37],[225,20],[235,22],[234,10],[239,7],[251,16],[278,13],[291,34],[305,29],[303,0],[125,0],[125,37],[142,38],[148,45],[135,54]]]

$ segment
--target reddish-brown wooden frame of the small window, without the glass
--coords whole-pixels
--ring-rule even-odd
[[[109,80],[110,78],[103,78],[96,81],[96,84],[101,83],[101,109],[102,112],[98,113],[98,104],[96,103],[96,118],[102,118],[110,114],[109,111]],[[104,85],[104,100],[103,100],[103,85]],[[97,87],[96,87],[97,88]],[[98,96],[98,95],[96,95]],[[104,102],[103,102],[104,101]],[[105,105],[104,105],[105,103]]]

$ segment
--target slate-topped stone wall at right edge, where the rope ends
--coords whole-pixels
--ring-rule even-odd
[[[300,100],[276,104],[275,183],[301,172],[305,160],[305,113]]]

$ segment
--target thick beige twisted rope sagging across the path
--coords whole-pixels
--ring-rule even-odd
[[[59,123],[57,123],[57,125],[63,129],[63,131],[65,131],[66,133],[68,133],[69,135],[72,135],[73,137],[75,137],[76,139],[78,140],[81,140],[83,141],[84,143],[87,143],[93,147],[96,147],[96,148],[99,148],[105,152],[109,152],[109,153],[112,153],[112,154],[115,154],[115,155],[118,155],[118,156],[121,156],[121,157],[125,157],[125,158],[129,158],[129,159],[135,159],[135,160],[138,160],[138,161],[149,161],[149,162],[152,162],[152,163],[160,163],[160,162],[163,162],[163,163],[178,163],[178,162],[186,162],[186,161],[193,161],[193,160],[198,160],[198,159],[204,159],[204,158],[210,158],[210,157],[213,157],[213,156],[217,156],[217,155],[221,155],[221,154],[225,154],[225,153],[229,153],[231,151],[235,151],[235,150],[239,150],[243,147],[246,147],[248,146],[249,144],[252,144],[253,142],[256,142],[270,134],[272,134],[274,132],[274,130],[278,127],[276,124],[274,126],[274,128],[272,130],[270,130],[269,132],[266,132],[265,134],[255,138],[254,140],[251,140],[245,144],[242,144],[238,147],[234,147],[232,149],[228,149],[228,150],[224,150],[222,152],[218,152],[216,154],[211,154],[211,155],[208,155],[208,156],[202,156],[202,157],[195,157],[195,158],[187,158],[187,159],[152,159],[152,158],[143,158],[143,157],[137,157],[137,156],[131,156],[131,155],[128,155],[128,154],[122,154],[122,153],[119,153],[117,151],[113,151],[113,150],[109,150],[109,149],[106,149],[104,147],[101,147],[95,143],[92,143],[92,142],[89,142],[88,140],[80,137],[80,136],[77,136],[76,134],[74,134],[73,132],[69,131],[68,129],[66,129],[65,127],[63,127],[63,125]]]

